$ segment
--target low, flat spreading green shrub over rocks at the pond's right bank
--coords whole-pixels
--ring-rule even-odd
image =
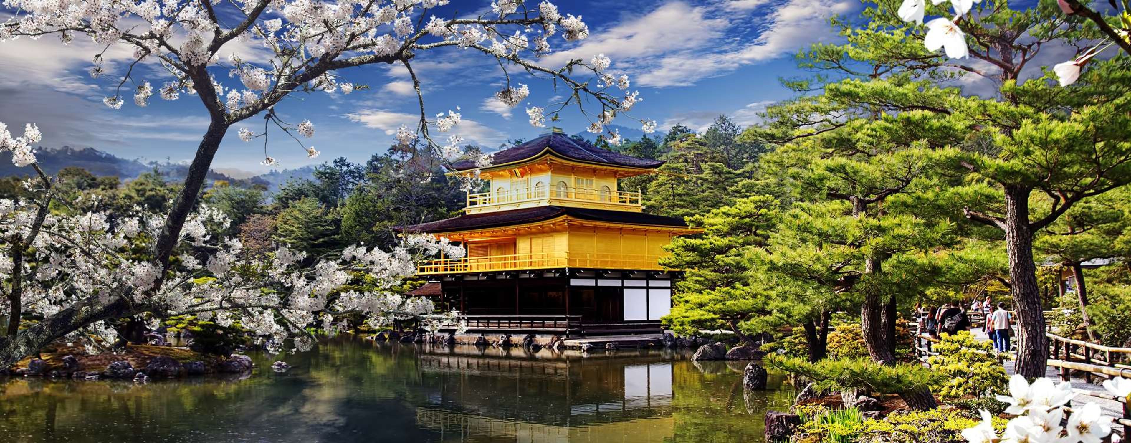
[[[767,366],[804,375],[814,388],[840,391],[864,388],[872,392],[903,393],[927,389],[938,383],[938,375],[917,364],[900,363],[884,366],[867,358],[823,359],[810,363],[802,358],[767,355]]]

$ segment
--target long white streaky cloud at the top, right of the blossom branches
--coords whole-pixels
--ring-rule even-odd
[[[856,5],[849,0],[734,0],[691,7],[673,1],[597,31],[582,44],[544,61],[562,66],[604,53],[613,59],[614,69],[629,72],[637,85],[688,86],[834,38],[828,18],[849,12]]]

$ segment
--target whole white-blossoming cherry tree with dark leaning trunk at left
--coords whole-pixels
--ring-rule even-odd
[[[154,95],[166,101],[195,96],[209,124],[169,214],[138,211],[128,217],[51,214],[52,179],[35,166],[32,153],[38,130],[28,125],[20,137],[2,131],[3,149],[14,154],[14,163],[35,168],[38,179],[28,185],[41,196],[34,201],[0,202],[0,229],[9,258],[0,263],[9,301],[6,314],[18,323],[23,313],[34,309],[44,320],[23,330],[18,324],[9,328],[10,333],[0,338],[0,366],[63,336],[106,333],[104,320],[140,313],[201,313],[222,321],[239,316],[245,327],[278,345],[286,331],[301,330],[316,320],[330,323],[335,313],[362,312],[380,321],[429,312],[423,302],[381,290],[340,294],[336,286],[345,281],[344,275],[362,272],[383,281],[378,288],[385,287],[386,280],[412,273],[413,257],[437,252],[442,244],[408,238],[391,252],[354,246],[321,258],[312,267],[300,267],[299,253],[286,249],[247,259],[239,253],[238,240],[209,234],[209,226],[226,220],[198,208],[197,196],[224,134],[252,116],[262,116],[264,129],[240,127],[238,134],[243,141],[262,138],[265,164],[275,163],[267,144],[270,131],[282,131],[308,155],[317,156],[319,151],[299,138],[312,136],[314,124],[310,120],[286,122],[276,110],[295,93],[351,94],[369,87],[344,81],[338,72],[345,69],[403,66],[416,92],[420,119],[402,127],[396,137],[406,145],[424,141],[448,159],[460,153],[461,116],[449,110],[429,118],[413,68],[429,53],[461,49],[493,59],[504,80],[495,97],[509,106],[520,105],[529,95],[527,85],[512,81],[513,73],[567,89],[558,103],[525,108],[535,127],[576,106],[589,119],[590,131],[603,132],[641,99],[637,92],[629,92],[627,76],[610,70],[612,61],[603,54],[563,67],[538,63],[552,42],[568,45],[588,35],[579,16],[562,14],[549,1],[534,6],[498,0],[490,12],[478,16],[450,11],[454,6],[447,3],[7,0],[3,5],[15,15],[0,24],[0,42],[49,35],[62,44],[90,38],[103,47],[92,54],[90,76],[113,77],[114,93],[103,101],[106,106],[120,108],[130,90],[137,106],[145,106]],[[247,44],[257,52],[233,52]],[[112,69],[104,59],[115,46],[132,49],[123,69]],[[159,72],[161,78],[141,78],[143,71]],[[646,131],[656,127],[653,121],[634,120]],[[437,141],[438,132],[450,134]],[[606,137],[619,139],[615,132]],[[146,251],[145,260],[126,253],[137,247]]]

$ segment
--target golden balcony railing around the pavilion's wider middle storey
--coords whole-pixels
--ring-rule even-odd
[[[423,262],[417,266],[416,273],[467,273],[559,268],[667,270],[667,268],[659,264],[662,257],[567,251],[465,257],[463,259],[441,259]]]

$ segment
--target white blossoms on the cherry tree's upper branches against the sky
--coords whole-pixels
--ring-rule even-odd
[[[612,115],[607,111],[624,113],[640,101],[638,93],[628,90],[631,84],[628,76],[613,73],[612,60],[604,54],[588,62],[570,62],[571,66],[587,68],[597,77],[597,82],[572,80],[572,69],[561,70],[534,63],[533,60],[550,51],[554,36],[566,42],[586,38],[589,28],[581,16],[563,14],[549,0],[538,2],[536,7],[524,0],[497,0],[491,5],[491,12],[477,17],[458,14],[451,18],[438,17],[441,12],[435,8],[448,2],[7,0],[5,5],[18,14],[0,21],[0,42],[24,36],[37,38],[52,33],[69,42],[76,35],[85,34],[104,47],[92,57],[90,76],[121,76],[113,93],[103,99],[106,106],[121,108],[126,104],[122,86],[135,85],[133,103],[138,106],[148,105],[154,95],[166,101],[197,95],[206,99],[210,110],[225,114],[228,124],[273,110],[279,99],[294,90],[354,92],[355,86],[343,80],[337,72],[339,69],[394,61],[407,67],[420,57],[420,52],[437,47],[480,51],[498,59],[504,71],[507,67],[517,67],[564,81],[575,89],[571,97],[578,102],[581,98],[577,93],[597,98],[602,111],[605,111],[602,113],[602,125],[607,124],[604,115]],[[242,20],[217,21],[217,17],[231,16]],[[242,53],[235,52],[235,44],[231,42],[239,42]],[[127,64],[121,63],[123,60],[114,60],[114,63],[104,60],[105,54],[124,53],[107,52],[114,45],[133,50],[133,60],[123,73],[114,72],[118,67]],[[141,62],[145,63],[138,66]],[[210,69],[216,67],[227,69],[231,80],[217,78],[214,72],[218,70]],[[163,81],[139,78],[152,75],[170,78]],[[200,85],[201,81],[206,85]],[[596,84],[601,87],[590,90]],[[606,90],[608,86],[619,88],[623,94],[614,95]],[[199,90],[201,88],[208,89],[207,94]],[[529,94],[527,85],[510,86],[508,77],[507,87],[497,93],[495,98],[508,106],[518,106]],[[421,102],[423,116],[423,97]],[[527,110],[533,124],[544,124],[544,120],[536,116],[544,115],[542,113],[546,111],[539,110],[543,108]],[[549,113],[555,115],[558,111],[560,108]],[[406,128],[406,131],[415,132],[412,140],[424,140],[431,147],[451,150],[452,140],[461,140],[458,134],[449,138],[448,146],[441,146],[442,141],[437,142],[429,137],[429,127],[446,132],[459,120],[458,113],[449,111],[447,115],[435,119],[421,119],[416,128]],[[641,123],[645,129],[651,124],[642,120]],[[313,125],[305,120],[295,129],[304,137],[313,134]],[[257,137],[250,130],[240,130],[239,136],[244,141]],[[409,137],[398,132],[397,139],[404,144]],[[311,157],[318,153],[313,148],[303,148]],[[275,165],[277,160],[265,153],[264,163]]]

